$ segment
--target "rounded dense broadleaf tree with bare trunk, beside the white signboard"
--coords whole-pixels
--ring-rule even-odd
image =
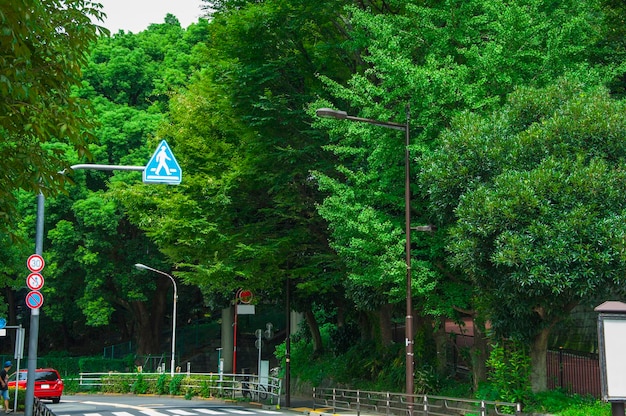
[[[548,335],[578,303],[623,285],[625,103],[562,80],[463,113],[423,159],[432,206],[454,212],[451,263],[502,336],[531,347],[545,390]]]

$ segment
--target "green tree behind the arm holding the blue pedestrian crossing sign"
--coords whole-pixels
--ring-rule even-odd
[[[93,104],[97,121],[93,133],[99,143],[89,147],[94,163],[147,163],[155,149],[149,139],[167,120],[172,92],[193,72],[199,26],[188,36],[168,16],[165,23],[136,35],[122,32],[98,39],[77,89]],[[75,152],[64,157],[70,164],[82,161]],[[102,328],[111,327],[108,343],[134,339],[139,354],[160,352],[162,328],[170,322],[165,318],[171,310],[172,285],[167,277],[140,272],[133,265],[146,263],[166,272],[173,266],[109,192],[113,186],[140,183],[141,175],[77,170],[67,176],[74,182],[69,193],[47,200],[49,266],[44,291],[51,322],[44,331],[63,334],[63,345],[78,347],[81,333],[101,339]],[[195,292],[181,285],[179,296],[196,299]],[[197,313],[194,303],[181,302],[181,319]]]

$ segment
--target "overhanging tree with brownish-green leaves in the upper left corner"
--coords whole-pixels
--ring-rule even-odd
[[[14,190],[52,194],[65,182],[63,155],[45,146],[70,143],[81,154],[93,140],[80,85],[89,46],[105,30],[100,5],[85,0],[0,3],[0,227],[14,217]]]

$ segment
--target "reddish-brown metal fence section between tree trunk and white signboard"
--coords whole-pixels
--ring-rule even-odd
[[[548,351],[548,388],[568,393],[602,395],[598,354],[560,349]]]

